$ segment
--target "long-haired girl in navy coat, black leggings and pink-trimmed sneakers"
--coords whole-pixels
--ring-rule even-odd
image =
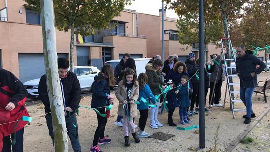
[[[105,106],[108,104],[113,104],[115,97],[110,95],[110,87],[114,87],[115,79],[113,74],[113,67],[110,64],[104,64],[101,72],[98,73],[98,76],[95,76],[95,84],[93,85],[93,95],[91,101],[91,108],[96,108],[101,114],[106,114]],[[96,112],[97,113],[97,112]],[[95,131],[95,136],[93,140],[93,145],[91,146],[90,151],[100,151],[98,144],[108,144],[111,142],[111,139],[108,139],[104,136],[105,126],[107,123],[107,118],[102,117],[97,113],[98,127]]]

